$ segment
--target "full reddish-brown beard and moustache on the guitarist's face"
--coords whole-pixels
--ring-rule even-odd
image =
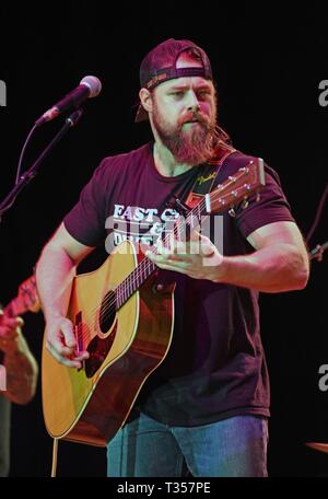
[[[171,151],[177,163],[196,166],[206,163],[214,155],[219,141],[216,109],[210,118],[190,113],[185,121],[177,126],[165,123],[156,106],[153,121],[163,144]],[[185,125],[186,120],[197,118],[195,125]],[[190,129],[187,129],[190,127]]]

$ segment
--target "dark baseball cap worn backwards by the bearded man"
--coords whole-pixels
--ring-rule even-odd
[[[201,67],[177,68],[176,63],[179,56],[191,50]],[[153,48],[142,59],[140,65],[140,88],[153,90],[159,84],[174,78],[202,77],[212,80],[212,68],[206,51],[189,39],[169,38]],[[134,121],[148,119],[148,112],[139,104]]]

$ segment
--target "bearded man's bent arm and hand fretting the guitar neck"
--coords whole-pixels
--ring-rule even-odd
[[[208,237],[196,234],[187,246],[177,243],[174,251],[162,248],[159,255],[148,252],[147,256],[166,270],[262,292],[292,291],[306,286],[308,256],[294,222],[269,223],[251,232],[247,241],[254,253],[223,256]]]

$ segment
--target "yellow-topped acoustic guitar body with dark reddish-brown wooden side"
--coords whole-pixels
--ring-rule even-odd
[[[49,434],[106,445],[126,421],[148,376],[164,360],[174,326],[174,285],[154,291],[150,277],[117,311],[112,292],[143,254],[125,242],[93,272],[73,281],[68,317],[81,369],[62,365],[43,347],[43,409]]]

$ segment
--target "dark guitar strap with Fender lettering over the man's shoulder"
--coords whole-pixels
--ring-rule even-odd
[[[232,146],[224,143],[218,148],[215,155],[208,163],[200,166],[196,181],[185,201],[188,208],[194,209],[200,202],[201,198],[212,190],[224,161],[235,151],[236,149]]]

